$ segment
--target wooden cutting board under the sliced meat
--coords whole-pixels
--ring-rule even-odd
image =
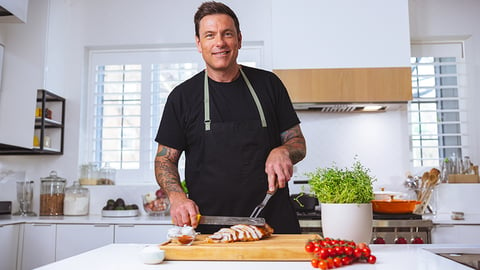
[[[317,234],[273,234],[259,241],[207,243],[206,237],[198,235],[191,246],[166,242],[160,249],[165,250],[165,260],[172,261],[310,261],[305,243],[320,238]]]

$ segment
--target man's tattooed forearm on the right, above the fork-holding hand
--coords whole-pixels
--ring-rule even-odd
[[[282,145],[287,148],[293,164],[302,160],[306,155],[305,138],[299,125],[296,125],[280,134]]]

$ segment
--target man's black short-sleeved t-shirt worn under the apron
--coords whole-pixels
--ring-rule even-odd
[[[262,104],[270,141],[274,147],[279,146],[280,133],[300,123],[287,90],[272,72],[245,66],[242,70]],[[205,71],[202,71],[170,93],[155,138],[159,144],[185,151],[187,166],[201,164],[201,160],[188,159],[190,149],[203,149],[204,76]],[[212,123],[260,119],[242,76],[230,83],[220,83],[209,78],[209,91]]]

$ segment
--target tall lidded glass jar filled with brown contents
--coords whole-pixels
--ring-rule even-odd
[[[40,178],[40,215],[62,216],[66,179],[51,171],[48,177]]]

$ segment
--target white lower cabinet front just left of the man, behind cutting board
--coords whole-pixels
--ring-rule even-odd
[[[115,225],[115,243],[159,244],[171,225]]]

